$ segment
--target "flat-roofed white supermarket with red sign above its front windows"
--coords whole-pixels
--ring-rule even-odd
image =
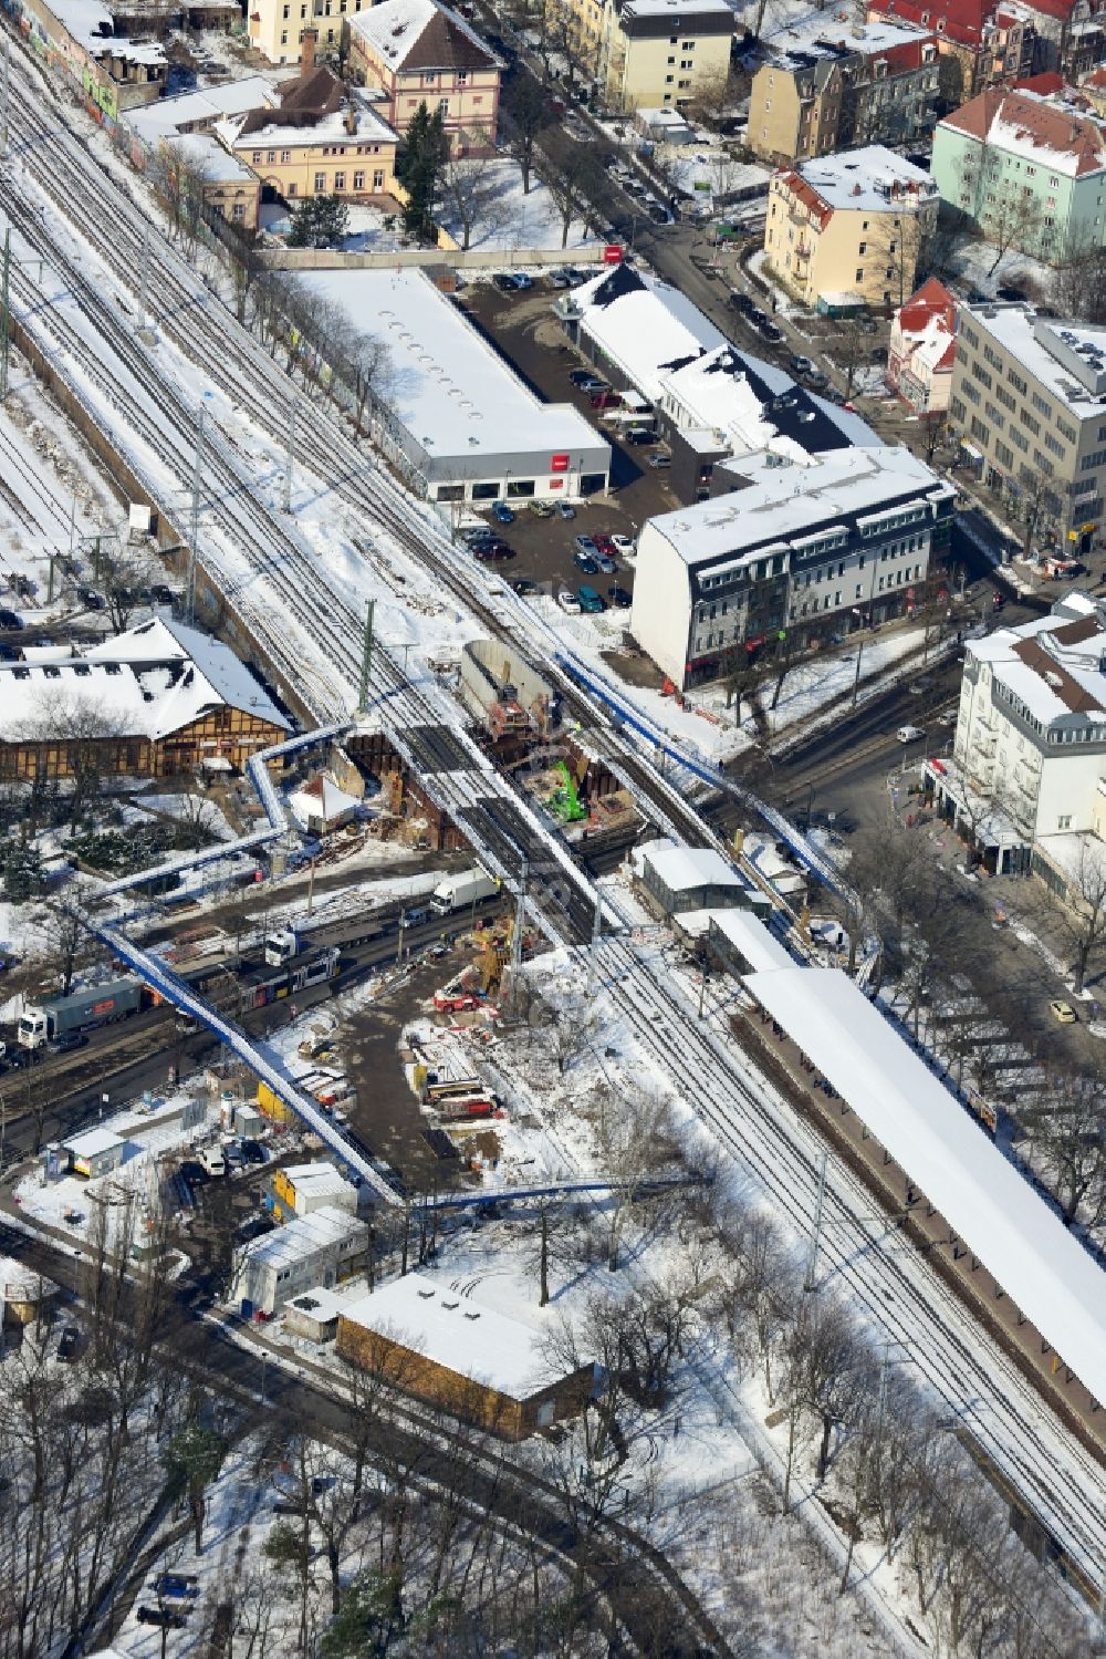
[[[431,501],[575,501],[607,489],[610,445],[542,403],[421,270],[303,272],[388,350],[375,435]]]

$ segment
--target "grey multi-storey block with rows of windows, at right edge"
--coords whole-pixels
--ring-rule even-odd
[[[1086,557],[1101,544],[1106,328],[962,305],[948,421],[985,483],[1023,521],[1031,513],[1038,551]]]

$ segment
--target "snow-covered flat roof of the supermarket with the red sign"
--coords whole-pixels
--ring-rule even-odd
[[[605,446],[569,403],[542,403],[424,272],[305,270],[300,279],[388,347],[388,401],[431,460],[536,450],[547,466],[547,455]]]

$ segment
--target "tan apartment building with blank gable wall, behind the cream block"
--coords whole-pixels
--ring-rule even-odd
[[[814,12],[766,41],[753,76],[749,149],[788,166],[859,144],[922,138],[937,119],[937,38],[909,23]]]

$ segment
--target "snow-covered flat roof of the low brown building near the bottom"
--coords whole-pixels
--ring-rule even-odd
[[[511,1400],[529,1400],[557,1380],[541,1331],[423,1272],[381,1284],[342,1317]]]

